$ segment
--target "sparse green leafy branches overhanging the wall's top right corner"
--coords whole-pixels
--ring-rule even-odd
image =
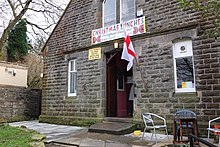
[[[212,30],[205,30],[210,37],[220,36],[220,0],[177,0],[181,8],[201,12],[203,18],[213,24]]]

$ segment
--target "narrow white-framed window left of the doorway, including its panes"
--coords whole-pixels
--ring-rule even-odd
[[[68,96],[76,96],[77,66],[76,60],[69,61]]]

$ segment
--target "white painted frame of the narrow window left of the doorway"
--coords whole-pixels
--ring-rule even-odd
[[[71,63],[74,64],[74,69],[71,71]],[[70,60],[68,64],[68,96],[76,96],[76,89],[75,93],[70,92],[70,83],[71,83],[71,73],[76,73],[77,74],[77,69],[76,69],[76,60]],[[76,85],[77,81],[74,81],[74,84]]]

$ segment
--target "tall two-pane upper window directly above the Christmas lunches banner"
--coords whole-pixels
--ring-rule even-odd
[[[136,16],[135,0],[104,0],[103,26],[107,27],[134,19]]]

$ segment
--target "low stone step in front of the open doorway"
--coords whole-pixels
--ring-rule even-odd
[[[124,135],[133,132],[136,125],[132,123],[101,122],[89,127],[89,132]]]

